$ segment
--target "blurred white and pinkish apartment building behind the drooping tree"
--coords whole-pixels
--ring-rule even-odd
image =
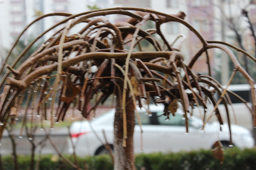
[[[6,55],[11,47],[15,37],[31,23],[35,18],[42,14],[52,12],[67,12],[77,14],[97,8],[111,7],[138,7],[153,8],[159,12],[167,14],[176,14],[179,11],[186,13],[185,20],[191,23],[207,40],[226,41],[237,45],[255,56],[255,41],[251,36],[248,19],[241,13],[246,9],[249,13],[251,23],[256,28],[256,5],[252,0],[1,0],[0,1],[0,50],[1,58]],[[58,23],[65,17],[53,16],[47,17],[33,24],[23,36],[22,41],[29,43],[34,37],[38,36],[51,25]],[[127,17],[118,16],[113,18],[108,16],[111,22],[125,21]],[[153,23],[154,24],[154,23]],[[83,25],[81,24],[81,27]],[[44,39],[51,36],[55,30],[45,34]],[[77,28],[72,28],[77,32]],[[187,29],[184,25],[176,22],[169,22],[161,25],[161,30],[166,39],[171,44],[177,36],[184,34],[186,40],[182,45],[181,52],[186,61],[202,47],[200,40]],[[239,42],[241,41],[241,42]],[[39,42],[40,43],[40,42]],[[179,46],[180,41],[174,44]],[[239,61],[245,64],[242,54],[237,54]],[[209,50],[211,72],[218,81],[226,84],[232,70],[232,64],[228,57],[218,51]],[[207,73],[206,56],[203,54],[194,66],[195,72],[205,70]],[[251,76],[256,76],[255,65],[248,62],[248,68]],[[230,66],[231,65],[231,66]],[[200,68],[200,69],[199,69]]]

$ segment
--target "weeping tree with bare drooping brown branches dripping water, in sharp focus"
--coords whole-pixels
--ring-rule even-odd
[[[129,10],[135,11],[135,13],[129,12]],[[126,15],[130,19],[127,22],[110,23],[106,18],[99,17],[110,14]],[[254,126],[256,126],[254,80],[241,67],[234,54],[227,47],[218,44],[218,41],[212,43],[205,40],[200,32],[184,21],[185,14],[183,12],[169,15],[152,9],[109,8],[75,15],[51,13],[42,15],[33,21],[20,36],[30,25],[49,16],[66,16],[67,18],[38,35],[17,56],[13,64],[7,66],[9,70],[1,79],[1,86],[3,82],[6,82],[6,84],[0,100],[0,121],[2,125],[0,134],[2,134],[8,120],[15,123],[17,110],[22,100],[26,100],[23,127],[26,125],[26,119],[29,115],[34,118],[43,116],[45,119],[50,119],[51,129],[53,129],[54,122],[64,120],[67,109],[71,105],[76,107],[83,117],[88,118],[90,112],[96,109],[99,103],[104,103],[113,94],[116,96],[114,168],[135,169],[133,132],[135,116],[138,116],[141,125],[136,110],[137,103],[139,107],[142,107],[141,100],[152,98],[154,103],[163,103],[163,116],[166,116],[167,120],[169,114],[175,115],[177,105],[181,103],[184,111],[185,133],[189,132],[189,114],[187,114],[189,113],[189,106],[196,104],[198,108],[203,107],[206,111],[207,100],[211,101],[214,111],[208,117],[203,115],[205,112],[201,113],[204,125],[213,115],[216,115],[220,125],[223,125],[222,117],[218,111],[218,104],[222,101],[226,108],[230,127],[227,105],[232,103],[227,94],[228,91],[223,89],[211,76],[197,75],[191,70],[201,54],[210,48],[223,50],[234,64],[234,71],[228,85],[237,71],[241,72],[248,80],[253,101],[253,110],[250,109],[250,111],[254,118]],[[142,30],[141,26],[147,20],[154,21],[156,28]],[[72,27],[82,22],[88,24],[77,34],[68,35]],[[184,57],[179,52],[180,48],[171,46],[171,43],[167,42],[162,34],[160,25],[166,22],[179,22],[185,25],[202,42],[203,46],[194,56],[191,56],[188,65],[184,63]],[[40,37],[63,23],[65,23],[65,27],[58,30],[50,39],[38,47],[16,70],[13,69],[17,61]],[[164,44],[152,36],[155,33],[161,37]],[[140,46],[142,40],[152,44],[154,51],[143,51]],[[1,72],[15,44],[3,62]],[[129,45],[129,50],[124,48],[124,44]],[[139,52],[134,52],[136,45],[139,47]],[[164,45],[168,47],[167,51],[163,50]],[[236,48],[236,50],[240,49]],[[243,50],[240,51],[243,52]],[[244,53],[247,55],[246,52]],[[249,57],[255,61],[255,58],[250,55]],[[208,65],[208,68],[211,69],[209,62]],[[92,67],[97,67],[97,71],[94,72]],[[184,72],[184,76],[181,71]],[[8,77],[9,74],[11,74],[10,77]],[[51,79],[54,79],[54,83],[51,83]],[[185,92],[186,89],[189,89],[190,92],[187,92],[189,90]],[[26,98],[24,98],[25,92],[29,92]],[[218,100],[214,98],[215,92],[218,92],[221,96]],[[98,93],[96,102],[90,105],[91,99]],[[47,101],[50,102],[49,112],[45,109]],[[55,103],[58,104],[58,107],[54,107]],[[30,112],[27,110],[29,107],[31,107]],[[38,122],[31,121],[30,123],[33,125]],[[32,129],[33,126],[31,126]],[[231,145],[231,129],[229,131]],[[141,132],[143,132],[142,129]]]

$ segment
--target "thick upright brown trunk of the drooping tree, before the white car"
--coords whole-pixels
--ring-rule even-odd
[[[120,85],[120,84],[119,84]],[[118,85],[117,85],[118,86]],[[126,94],[126,120],[127,120],[127,140],[126,147],[123,147],[123,115],[121,109],[122,85],[118,87],[117,105],[114,120],[114,170],[135,170],[135,158],[133,149],[133,132],[135,124],[134,105],[129,98],[129,91]]]

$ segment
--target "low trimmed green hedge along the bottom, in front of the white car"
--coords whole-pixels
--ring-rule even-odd
[[[66,156],[72,162],[74,158]],[[11,156],[3,156],[2,162],[5,170],[14,169]],[[19,156],[19,169],[29,169],[30,157]],[[84,169],[84,164],[89,170],[113,170],[110,156],[78,158],[79,165]],[[225,150],[223,164],[214,159],[211,151],[200,150],[179,153],[151,153],[136,156],[136,168],[145,167],[146,170],[255,170],[256,148],[239,150],[232,148]],[[74,169],[58,156],[44,155],[41,158],[39,169],[43,170],[71,170]]]

